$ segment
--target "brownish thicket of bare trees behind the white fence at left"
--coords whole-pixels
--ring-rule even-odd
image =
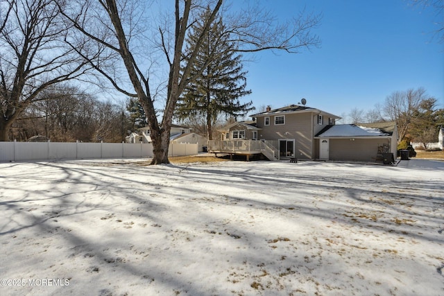
[[[128,126],[123,106],[99,101],[78,87],[58,85],[40,92],[12,132],[24,141],[40,134],[51,141],[121,142]]]

